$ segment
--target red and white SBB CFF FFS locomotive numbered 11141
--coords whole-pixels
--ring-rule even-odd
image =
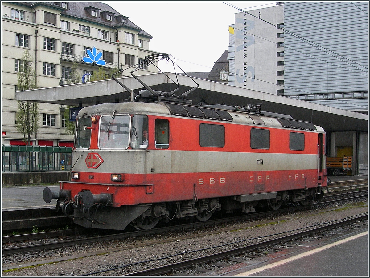
[[[322,198],[324,130],[247,110],[165,101],[85,107],[76,118],[71,180],[44,189],[44,200],[63,202],[81,226],[123,230]]]

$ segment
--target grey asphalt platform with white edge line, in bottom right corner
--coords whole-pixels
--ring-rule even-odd
[[[362,231],[336,240],[310,246],[297,246],[289,254],[277,254],[264,260],[223,272],[222,276],[261,277],[369,277],[369,234]],[[278,252],[279,253],[279,252]]]

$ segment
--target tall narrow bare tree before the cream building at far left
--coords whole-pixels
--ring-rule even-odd
[[[36,71],[31,67],[32,58],[28,50],[23,52],[22,60],[18,64],[18,90],[37,88]],[[23,134],[23,141],[31,145],[32,136],[38,131],[38,102],[18,101],[16,113],[16,128]]]

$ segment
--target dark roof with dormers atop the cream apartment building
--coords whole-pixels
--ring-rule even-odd
[[[61,11],[61,15],[67,17],[78,18],[86,21],[91,21],[94,23],[99,23],[111,28],[117,27],[126,27],[132,30],[138,31],[138,34],[143,35],[145,37],[153,38],[150,34],[142,30],[136,24],[134,24],[131,20],[129,20],[127,16],[120,14],[118,11],[113,9],[111,6],[101,3],[101,2],[66,2],[68,4],[67,9],[62,8],[58,4],[61,2],[15,2],[14,4],[21,4],[28,7],[36,7],[39,5],[53,7],[54,9],[59,9]],[[124,2],[122,3],[124,5]],[[91,10],[96,10],[98,16],[94,17],[91,15]],[[112,21],[109,21],[105,17],[105,13],[112,15]],[[122,22],[122,18],[125,19],[125,22]]]

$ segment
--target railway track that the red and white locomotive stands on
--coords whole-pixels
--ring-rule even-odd
[[[227,217],[222,219],[215,219],[205,222],[195,222],[195,223],[187,223],[187,224],[181,224],[181,225],[175,225],[175,226],[167,226],[167,227],[161,227],[161,228],[153,228],[151,230],[139,230],[134,232],[128,232],[128,233],[119,233],[119,234],[109,234],[109,235],[98,235],[98,236],[90,236],[86,237],[84,235],[81,235],[77,230],[65,230],[65,231],[59,231],[61,234],[58,234],[57,232],[51,232],[51,233],[38,233],[38,234],[28,234],[28,235],[13,235],[13,236],[7,236],[3,237],[3,255],[12,255],[17,254],[19,252],[36,252],[36,251],[43,251],[43,250],[50,250],[55,249],[59,247],[67,247],[72,246],[76,244],[89,244],[89,243],[95,243],[98,241],[111,241],[111,240],[120,240],[124,238],[129,237],[139,237],[139,236],[145,236],[145,235],[152,235],[152,234],[158,234],[158,233],[164,233],[166,231],[178,231],[178,230],[184,230],[189,228],[198,228],[203,226],[210,226],[214,224],[221,224],[221,223],[231,223],[233,221],[241,221],[246,220],[250,218],[256,218],[256,217],[263,217],[270,214],[280,214],[280,213],[288,213],[293,212],[297,210],[304,210],[309,209],[312,207],[317,206],[324,206],[326,204],[330,203],[336,203],[339,201],[348,201],[348,200],[355,200],[360,198],[366,198],[367,194],[357,195],[354,197],[347,197],[345,199],[341,200],[330,200],[330,201],[323,201],[319,203],[313,203],[306,206],[289,206],[285,207],[280,210],[276,211],[264,211],[260,213],[251,213],[243,216],[235,216],[235,217]],[[63,232],[65,234],[63,234]],[[67,234],[68,233],[68,234]],[[73,237],[72,237],[73,236]]]

